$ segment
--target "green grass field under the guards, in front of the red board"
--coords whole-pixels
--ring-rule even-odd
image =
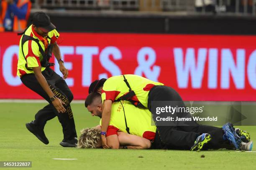
[[[59,145],[63,134],[56,117],[46,124],[45,133],[50,143],[44,145],[26,129],[25,123],[33,120],[35,113],[45,105],[45,103],[0,103],[0,161],[32,161],[32,168],[22,169],[38,170],[254,170],[256,167],[256,152],[63,148]],[[78,135],[80,129],[95,126],[100,120],[98,117],[92,117],[84,109],[83,104],[72,104],[72,109]],[[252,141],[256,141],[256,127],[242,128],[251,133]],[[253,150],[256,150],[255,146]],[[201,155],[205,155],[205,158],[201,158]]]

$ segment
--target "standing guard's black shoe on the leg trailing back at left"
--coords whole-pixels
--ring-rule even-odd
[[[34,122],[30,122],[30,123],[26,123],[26,128],[33,133],[36,138],[38,138],[39,140],[41,140],[42,143],[44,144],[48,144],[49,140],[46,138],[45,134],[44,134],[44,129],[40,129],[38,128]]]

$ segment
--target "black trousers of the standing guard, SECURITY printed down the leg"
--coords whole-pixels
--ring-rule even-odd
[[[77,138],[76,128],[74,124],[73,112],[70,107],[70,102],[73,100],[73,94],[70,91],[69,87],[65,80],[54,72],[51,68],[47,67],[46,70],[42,72],[51,91],[56,97],[61,99],[66,105],[63,105],[67,110],[65,113],[58,113],[56,108],[53,106],[49,96],[41,87],[37,81],[34,74],[27,74],[20,78],[26,87],[36,92],[38,95],[41,95],[45,100],[49,102],[49,105],[46,105],[44,108],[39,110],[35,115],[34,123],[38,128],[44,129],[46,122],[58,117],[59,122],[61,123],[64,140],[71,140]]]

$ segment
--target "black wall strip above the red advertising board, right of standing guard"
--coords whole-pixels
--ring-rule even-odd
[[[256,18],[217,15],[71,15],[50,13],[61,32],[134,32],[170,34],[256,35]]]

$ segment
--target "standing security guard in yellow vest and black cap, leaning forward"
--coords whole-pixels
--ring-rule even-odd
[[[49,140],[44,134],[44,126],[48,120],[58,116],[64,133],[60,145],[75,147],[77,133],[70,107],[73,95],[64,80],[68,76],[68,70],[61,60],[56,43],[59,33],[55,28],[46,13],[38,12],[33,15],[33,24],[21,33],[17,75],[26,87],[49,102],[49,105],[36,113],[34,121],[26,124],[26,128],[47,145]],[[52,52],[58,60],[63,78],[50,68],[54,65],[49,62]]]

